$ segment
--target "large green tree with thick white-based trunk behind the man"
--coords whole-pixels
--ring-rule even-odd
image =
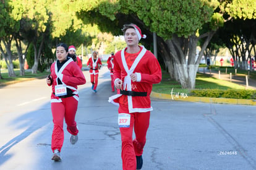
[[[120,0],[74,1],[77,14],[85,23],[96,23],[101,31],[120,34],[124,23],[134,22],[142,32],[158,35],[158,51],[169,74],[182,88],[195,87],[198,65],[216,30],[233,17],[255,17],[255,1],[172,1]],[[147,4],[147,5],[145,5]],[[249,7],[249,9],[248,9]],[[241,14],[236,13],[236,9]],[[250,12],[247,12],[250,11]],[[203,25],[207,32],[200,32]],[[202,50],[196,56],[198,40]],[[143,42],[143,41],[142,41]],[[143,42],[144,43],[144,42]]]

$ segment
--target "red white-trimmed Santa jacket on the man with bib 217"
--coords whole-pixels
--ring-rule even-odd
[[[129,80],[129,76],[127,76],[127,61],[125,59],[126,49],[118,51],[114,57],[114,80],[116,81],[117,79],[121,79],[124,84],[127,82],[125,87],[126,90],[147,92],[147,96],[127,96],[117,94],[109,98],[109,102],[111,103],[127,104],[129,113],[147,112],[153,110],[151,108],[150,101],[152,84],[160,83],[162,77],[161,67],[156,57],[142,46],[140,48],[140,54],[137,56],[135,61],[132,62],[132,64],[135,65],[128,68],[129,74],[137,73],[137,77],[139,76],[139,82],[132,82]],[[140,57],[141,59],[139,59]],[[128,79],[125,80],[125,78]],[[130,89],[127,87],[130,87]],[[119,91],[117,93],[119,93]]]

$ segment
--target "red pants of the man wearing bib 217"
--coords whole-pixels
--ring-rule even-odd
[[[129,113],[128,106],[120,104],[119,113]],[[150,111],[146,113],[130,113],[130,127],[121,127],[122,140],[122,169],[135,170],[137,166],[136,156],[143,153],[146,143],[146,135],[150,122]],[[132,140],[134,129],[135,139]]]

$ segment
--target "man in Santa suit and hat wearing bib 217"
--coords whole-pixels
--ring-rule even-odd
[[[114,85],[117,95],[109,102],[119,105],[119,129],[122,140],[122,169],[141,169],[142,153],[152,111],[150,93],[153,83],[161,81],[161,67],[156,57],[143,46],[146,38],[137,25],[124,25],[127,47],[114,56]],[[133,140],[132,133],[135,132]]]

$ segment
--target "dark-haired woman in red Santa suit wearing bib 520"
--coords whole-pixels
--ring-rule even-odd
[[[54,161],[61,161],[61,148],[64,141],[63,121],[67,124],[67,131],[71,134],[70,143],[78,140],[77,122],[75,113],[79,95],[77,85],[85,84],[85,77],[72,58],[67,57],[67,45],[60,43],[56,48],[57,60],[51,65],[51,75],[46,78],[46,83],[52,86],[51,112],[53,114],[53,134],[51,149]]]

